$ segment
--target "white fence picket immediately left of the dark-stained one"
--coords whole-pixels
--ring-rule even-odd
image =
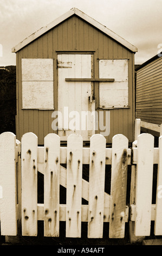
[[[100,134],[90,138],[88,238],[103,235],[106,139]]]

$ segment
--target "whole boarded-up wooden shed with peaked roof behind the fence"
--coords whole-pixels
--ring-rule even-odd
[[[102,132],[107,143],[118,133],[133,142],[135,46],[72,8],[12,52],[16,53],[18,139],[34,132],[42,145],[51,132],[62,141],[73,132],[81,133],[84,141]],[[70,128],[74,113],[80,119],[86,113],[88,129],[77,122],[75,129]],[[88,119],[89,113],[94,113],[93,118]]]

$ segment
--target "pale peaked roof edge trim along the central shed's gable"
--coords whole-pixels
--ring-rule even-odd
[[[121,36],[115,34],[113,31],[111,31],[107,27],[103,26],[98,21],[95,21],[94,19],[92,19],[91,17],[89,17],[87,14],[83,13],[79,9],[72,8],[67,13],[61,15],[59,18],[57,18],[53,22],[49,23],[47,26],[42,27],[41,29],[39,29],[35,33],[31,34],[28,38],[24,39],[18,45],[13,47],[12,48],[12,52],[17,52],[17,51],[21,50],[21,48],[23,48],[24,46],[30,44],[30,42],[32,42],[33,40],[37,39],[39,36],[43,35],[44,33],[48,32],[51,28],[54,28],[55,26],[59,25],[59,23],[61,23],[64,20],[68,19],[69,17],[71,17],[74,14],[79,16],[81,19],[87,21],[88,23],[90,23],[94,27],[98,28],[100,31],[102,31],[103,33],[107,34],[108,36],[110,36],[114,40],[120,42],[121,45],[124,45],[126,48],[128,48],[132,52],[137,52],[138,51],[137,47],[135,47],[134,45],[130,44],[125,39],[121,38]]]

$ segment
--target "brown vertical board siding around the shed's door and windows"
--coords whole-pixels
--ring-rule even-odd
[[[118,133],[125,135],[133,142],[134,127],[134,53],[121,46],[95,27],[76,16],[60,23],[48,33],[31,42],[17,52],[17,138],[25,132],[34,132],[38,136],[38,144],[43,144],[43,138],[51,132],[53,111],[22,109],[22,58],[53,58],[54,59],[54,108],[57,110],[57,53],[63,51],[94,51],[94,77],[99,77],[99,59],[127,58],[129,79],[129,109],[111,109],[110,134],[107,143],[112,143],[112,137]],[[133,66],[133,69],[132,69]],[[132,86],[133,85],[133,86]],[[99,82],[94,83],[96,109],[99,108]],[[104,111],[102,109],[98,109]],[[96,131],[98,133],[99,131]]]

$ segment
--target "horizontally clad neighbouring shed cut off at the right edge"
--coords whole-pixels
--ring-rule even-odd
[[[135,69],[136,117],[141,121],[162,124],[162,58],[157,54]],[[145,131],[144,128],[141,130]]]

